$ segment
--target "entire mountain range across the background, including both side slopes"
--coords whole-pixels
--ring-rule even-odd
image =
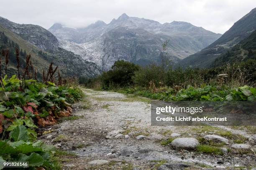
[[[116,60],[139,65],[159,63],[166,40],[167,57],[182,67],[213,67],[255,58],[256,8],[223,35],[186,22],[161,24],[126,14],[108,24],[97,21],[84,28],[68,28],[56,23],[49,30],[0,17],[0,50],[12,50],[10,72],[16,72],[18,46],[23,54],[32,55],[38,77],[50,62],[64,76],[77,77],[94,77],[108,70]],[[23,65],[25,57],[20,58]]]

